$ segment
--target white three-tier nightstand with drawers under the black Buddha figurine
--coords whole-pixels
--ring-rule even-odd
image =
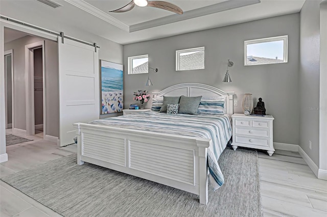
[[[231,144],[234,150],[238,146],[247,148],[256,148],[267,150],[271,156],[275,149],[272,138],[272,121],[271,115],[253,116],[244,114],[233,114],[233,142]]]

